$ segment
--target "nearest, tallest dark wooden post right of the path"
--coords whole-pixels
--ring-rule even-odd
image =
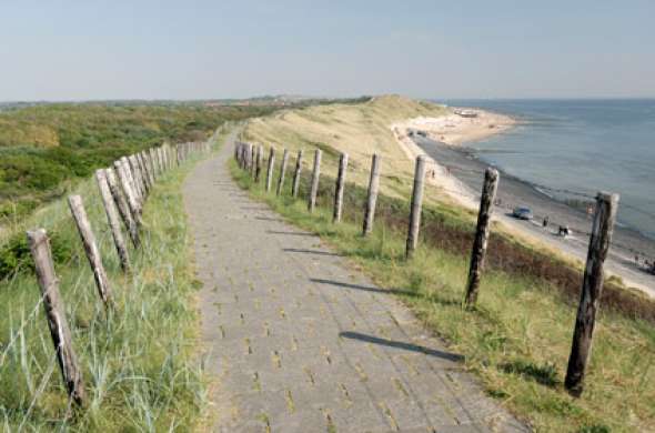
[[[594,225],[590,239],[566,379],[564,380],[564,386],[574,396],[580,396],[584,387],[585,370],[592,353],[596,312],[603,293],[603,266],[612,242],[617,207],[618,194],[599,192],[596,197]]]

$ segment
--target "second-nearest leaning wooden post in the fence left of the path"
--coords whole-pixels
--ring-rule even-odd
[[[84,245],[84,252],[87,253],[87,259],[89,259],[89,265],[93,271],[93,279],[98,286],[98,293],[100,294],[100,299],[102,299],[104,306],[109,309],[112,303],[111,286],[109,285],[109,279],[107,278],[107,272],[104,272],[104,266],[102,265],[100,250],[95,242],[95,235],[91,230],[91,223],[89,223],[82,198],[80,195],[70,195],[68,198],[68,204],[73,215],[73,220],[75,221],[75,225],[78,226],[82,245]]]

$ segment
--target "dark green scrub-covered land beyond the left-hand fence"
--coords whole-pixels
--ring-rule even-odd
[[[272,107],[42,104],[0,112],[0,226],[61,195],[117,157],[202,140]]]

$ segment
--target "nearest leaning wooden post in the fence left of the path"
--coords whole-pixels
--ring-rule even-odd
[[[87,400],[82,370],[78,364],[78,356],[72,345],[63,303],[59,295],[59,280],[54,273],[50,242],[43,229],[29,231],[27,235],[34,259],[37,280],[39,281],[39,288],[41,288],[43,310],[46,310],[46,319],[48,319],[59,370],[69,399],[78,406],[82,406]]]

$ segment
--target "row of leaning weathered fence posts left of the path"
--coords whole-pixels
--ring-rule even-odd
[[[102,200],[89,200],[87,203],[89,205],[100,207],[100,213],[107,218],[107,225],[101,223],[95,228],[95,231],[93,231],[91,226],[89,214],[84,209],[82,198],[80,195],[69,197],[68,204],[71,216],[74,224],[77,225],[78,234],[80,235],[79,240],[83,244],[82,250],[89,261],[91,272],[93,273],[93,280],[95,281],[95,285],[99,289],[98,292],[100,294],[100,299],[104,304],[102,305],[104,309],[102,309],[99,302],[91,300],[91,302],[94,303],[97,310],[94,318],[99,314],[102,314],[98,310],[102,310],[107,314],[108,322],[114,318],[114,315],[111,313],[111,311],[113,311],[114,304],[112,302],[108,302],[112,301],[111,298],[107,296],[105,299],[103,296],[104,293],[100,290],[101,282],[109,282],[103,264],[102,255],[104,254],[104,251],[100,248],[100,245],[111,244],[113,239],[114,246],[117,246],[117,255],[119,259],[121,259],[118,238],[121,238],[122,242],[125,233],[129,233],[132,226],[134,226],[138,232],[143,231],[141,213],[143,204],[145,203],[155,181],[158,181],[168,171],[180,167],[192,155],[209,154],[211,150],[211,141],[188,142],[179,144],[164,143],[162,145],[150,148],[133,154],[129,157],[129,160],[127,157],[121,158],[117,160],[114,165],[109,169],[98,170],[95,172],[95,180]],[[113,170],[117,170],[119,178],[113,184],[115,187],[115,193],[111,191],[112,182],[108,177],[108,173],[110,171],[113,172]],[[118,212],[119,209],[121,212]],[[138,225],[135,225],[135,221],[139,222]],[[29,393],[28,395],[30,396],[31,401],[29,402],[29,405],[26,406],[26,412],[22,415],[22,419],[16,420],[16,423],[18,424],[18,431],[29,429],[30,417],[36,412],[34,407],[38,404],[39,399],[48,389],[48,383],[51,380],[56,364],[59,364],[61,369],[64,382],[63,387],[68,391],[67,413],[70,412],[72,404],[75,406],[85,405],[84,403],[87,401],[87,392],[82,379],[83,363],[79,362],[83,360],[79,360],[74,353],[73,340],[75,335],[71,333],[71,330],[69,329],[67,316],[73,315],[79,310],[80,304],[87,301],[82,298],[92,296],[91,291],[82,291],[82,296],[73,296],[73,299],[69,300],[69,303],[64,302],[59,290],[60,279],[56,268],[66,268],[70,265],[73,259],[71,258],[71,260],[67,260],[66,262],[56,263],[57,258],[54,258],[52,254],[53,250],[51,248],[51,238],[48,235],[46,229],[39,228],[37,230],[30,230],[26,234],[28,239],[29,252],[31,254],[19,261],[18,264],[12,269],[11,273],[2,280],[3,283],[7,282],[8,284],[14,284],[22,271],[31,269],[36,273],[38,286],[40,286],[41,290],[40,296],[34,305],[31,305],[31,302],[26,301],[18,305],[13,305],[20,310],[20,318],[16,320],[16,324],[13,323],[14,321],[10,319],[9,341],[6,345],[0,346],[0,367],[6,367],[6,365],[9,364],[7,362],[8,360],[10,360],[9,362],[12,362],[14,358],[18,358],[11,356],[12,350],[16,351],[18,350],[17,348],[20,348],[21,358],[21,360],[17,362],[24,363],[26,356],[29,358],[30,365],[21,364],[20,367],[23,371],[27,371],[27,392]],[[50,234],[52,234],[52,232]],[[124,246],[124,244],[122,246]],[[139,249],[139,246],[141,246],[141,244],[135,242],[134,250]],[[104,262],[107,262],[108,258],[104,256]],[[122,271],[127,275],[130,274],[129,269],[122,269]],[[75,293],[79,292],[77,288],[81,285],[81,281],[88,278],[88,273],[83,271],[73,272],[72,276],[73,278],[71,281],[69,281],[68,278],[66,279],[66,285],[67,289]],[[70,293],[70,291],[67,292]],[[67,292],[64,292],[64,294]],[[107,291],[107,293],[110,293],[110,291]],[[54,349],[53,352],[52,348],[48,350],[43,333],[37,332],[38,338],[41,339],[41,345],[43,346],[46,356],[50,358],[49,354],[52,354],[49,363],[37,360],[37,358],[31,353],[31,351],[34,349],[34,344],[38,346],[38,341],[31,345],[24,341],[24,336],[28,333],[28,328],[30,326],[31,330],[31,325],[34,324],[37,318],[39,316],[40,309],[43,309],[42,311],[44,311],[44,316],[49,325],[48,328],[50,330],[50,336],[52,338]],[[39,331],[38,329],[36,330]],[[34,371],[31,372],[30,370]],[[32,380],[30,379],[32,376],[39,376],[39,383],[36,389],[34,383],[32,383]],[[26,401],[24,404],[27,403],[28,402]],[[62,426],[67,425],[67,423],[68,415],[63,420]]]

